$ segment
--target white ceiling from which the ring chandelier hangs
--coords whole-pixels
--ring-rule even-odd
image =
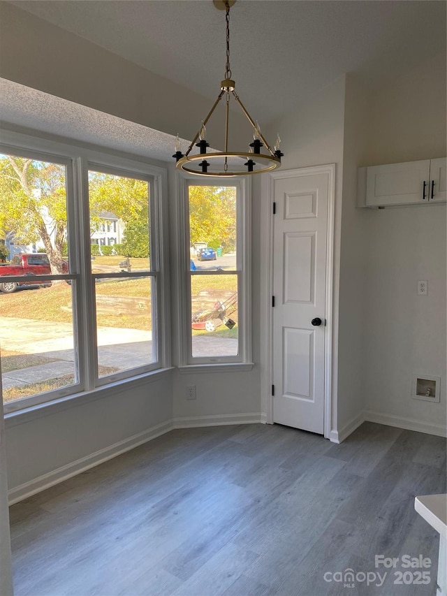
[[[11,0],[149,71],[214,99],[225,13],[211,0]],[[446,51],[446,2],[237,0],[237,92],[261,122],[292,111],[346,72],[377,89]]]

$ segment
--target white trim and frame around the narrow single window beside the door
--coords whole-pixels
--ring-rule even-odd
[[[237,201],[237,272],[223,272],[221,275],[237,275],[239,291],[239,351],[237,356],[193,358],[191,356],[191,289],[189,254],[189,184],[193,186],[236,186]],[[188,372],[242,372],[251,370],[254,363],[251,356],[251,179],[235,177],[222,181],[219,177],[198,180],[177,172],[177,231],[179,233],[177,284],[177,321],[179,321],[179,366],[182,373]],[[210,271],[210,275],[219,272]]]

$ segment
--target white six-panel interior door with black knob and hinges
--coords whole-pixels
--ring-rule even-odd
[[[273,421],[323,434],[330,177],[318,169],[274,180]]]

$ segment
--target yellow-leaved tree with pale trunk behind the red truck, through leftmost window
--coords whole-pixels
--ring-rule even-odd
[[[0,155],[0,233],[15,242],[42,240],[52,272],[62,272],[66,239],[65,168],[57,163]]]

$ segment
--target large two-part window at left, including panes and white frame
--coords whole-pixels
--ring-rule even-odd
[[[5,412],[165,368],[165,171],[10,136],[17,145],[0,145]]]

